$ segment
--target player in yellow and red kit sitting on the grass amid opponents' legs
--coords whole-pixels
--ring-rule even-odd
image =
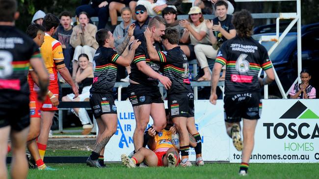
[[[150,167],[168,166],[175,167],[180,163],[180,155],[178,149],[173,145],[172,134],[176,134],[176,128],[173,126],[172,119],[169,118],[168,110],[166,111],[166,127],[160,133],[156,134],[155,129],[150,128],[148,134],[149,149],[142,147],[133,155],[132,158],[125,154],[121,155],[121,160],[124,165],[129,168],[135,168],[136,164],[144,162]],[[190,146],[195,147],[195,138],[189,134]]]

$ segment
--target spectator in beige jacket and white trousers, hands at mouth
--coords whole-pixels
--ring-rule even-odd
[[[75,78],[79,67],[79,55],[85,53],[88,56],[89,62],[93,63],[93,56],[96,49],[99,47],[95,40],[97,28],[95,25],[89,23],[89,16],[86,12],[81,12],[79,14],[79,21],[80,24],[73,27],[70,38],[70,44],[75,48],[73,56],[73,78]]]

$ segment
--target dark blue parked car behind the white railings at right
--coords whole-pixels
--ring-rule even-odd
[[[280,26],[280,34],[283,32],[285,26],[289,23],[283,23]],[[276,35],[275,24],[259,26],[254,29],[253,38],[259,40],[263,35]],[[267,50],[275,42],[262,42],[262,45]],[[311,71],[312,79],[310,84],[313,85],[317,91],[319,90],[319,23],[302,25],[301,27],[301,56],[302,68],[308,68]],[[297,78],[297,32],[294,26],[286,35],[283,41],[271,53],[270,59],[278,74],[278,77],[287,92],[292,86],[292,83]],[[268,86],[268,94],[271,98],[282,98],[282,95],[273,82]],[[264,91],[264,90],[263,90]],[[317,92],[318,97],[318,92]]]

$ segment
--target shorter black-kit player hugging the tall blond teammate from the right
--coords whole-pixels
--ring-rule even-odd
[[[194,94],[188,78],[188,61],[178,45],[180,41],[179,33],[175,28],[169,27],[165,30],[165,35],[162,36],[162,44],[167,51],[157,51],[154,48],[150,41],[153,33],[149,29],[146,29],[144,34],[150,58],[163,64],[164,75],[172,81],[171,88],[167,90],[167,103],[170,117],[180,135],[181,166],[192,166],[188,159],[188,133],[192,134],[197,142],[195,147],[196,165],[204,165],[201,137],[195,127]]]

